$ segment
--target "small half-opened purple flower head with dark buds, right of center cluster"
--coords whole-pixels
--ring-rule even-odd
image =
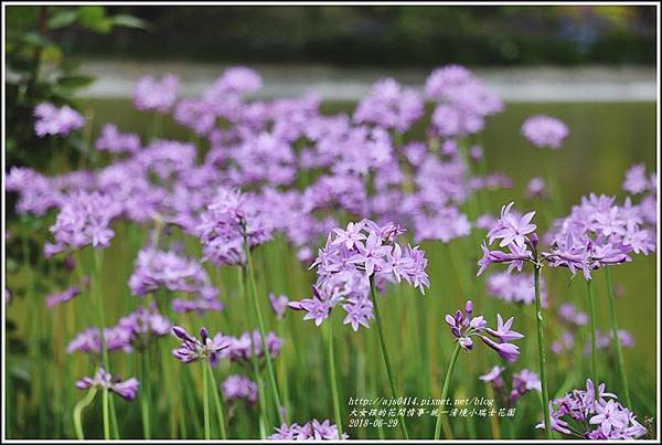
[[[510,341],[520,340],[524,336],[511,329],[514,318],[509,318],[505,322],[501,314],[496,315],[496,329],[488,327],[484,317],[472,316],[473,301],[469,300],[465,305],[465,311],[457,310],[455,315],[446,315],[446,322],[450,326],[450,331],[456,341],[466,351],[473,349],[472,337],[478,337],[483,343],[492,348],[499,357],[508,362],[513,362],[520,356],[520,348]],[[485,336],[489,335],[492,338]]]

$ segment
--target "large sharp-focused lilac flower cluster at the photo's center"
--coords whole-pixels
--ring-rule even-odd
[[[345,325],[354,331],[360,326],[370,327],[373,305],[370,299],[370,280],[401,283],[403,279],[419,288],[429,287],[425,272],[427,259],[415,247],[403,247],[397,237],[405,230],[397,224],[378,225],[371,220],[348,224],[346,230],[334,229],[320,248],[312,267],[318,280],[312,298],[290,301],[292,309],[306,311],[305,320],[320,326],[331,309],[340,306],[346,316]]]

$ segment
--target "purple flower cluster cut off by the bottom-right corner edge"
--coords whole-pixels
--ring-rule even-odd
[[[552,428],[562,434],[594,441],[634,439],[647,430],[637,416],[617,402],[617,396],[605,392],[605,383],[595,396],[594,382],[586,380],[586,390],[573,390],[549,402]],[[544,428],[544,423],[536,427]]]

